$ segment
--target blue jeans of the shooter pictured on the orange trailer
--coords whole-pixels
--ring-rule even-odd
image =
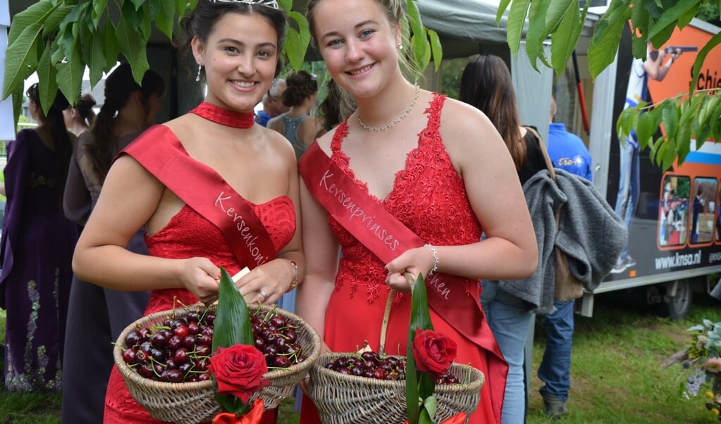
[[[621,149],[621,169],[619,169],[619,194],[616,195],[616,213],[624,219],[626,228],[631,234],[631,220],[636,214],[638,198],[641,192],[640,180],[640,150],[634,147],[633,136],[628,136],[626,142],[619,146]],[[631,237],[629,237],[630,241]],[[621,257],[629,255],[628,242]]]

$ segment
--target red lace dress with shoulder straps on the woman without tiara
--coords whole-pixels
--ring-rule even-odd
[[[481,226],[469,206],[463,180],[451,164],[438,132],[441,108],[445,97],[436,94],[428,114],[428,126],[419,134],[418,146],[410,151],[405,168],[396,175],[394,187],[385,200],[378,200],[386,210],[415,232],[421,239],[437,245],[459,245],[478,242]],[[331,159],[353,180],[353,169],[348,167],[348,156],[341,150],[343,138],[348,135],[347,121],[341,123],[331,142]],[[367,185],[355,180],[363,190]],[[373,197],[373,195],[371,195]],[[377,198],[373,199],[377,200]],[[371,348],[378,349],[389,286],[381,262],[370,250],[358,242],[334,219],[329,225],[342,246],[340,268],[325,319],[325,343],[333,351],[358,350],[368,340]],[[479,281],[455,278],[454,283],[464,284],[468,296],[479,295]],[[479,314],[482,312],[479,310]],[[433,327],[458,343],[458,363],[469,363],[485,375],[485,352],[461,335],[433,309],[430,310]],[[386,352],[405,355],[410,317],[410,296],[397,293],[390,314],[386,336]],[[301,423],[319,423],[317,412],[304,399]],[[481,390],[481,402],[469,423],[495,423],[490,405],[487,384]]]

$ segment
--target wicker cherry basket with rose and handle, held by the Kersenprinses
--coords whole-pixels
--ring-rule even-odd
[[[323,423],[464,423],[478,407],[484,374],[454,362],[456,342],[433,331],[423,276],[413,280],[405,356],[384,355],[390,291],[379,352],[324,353],[311,367],[309,394]]]

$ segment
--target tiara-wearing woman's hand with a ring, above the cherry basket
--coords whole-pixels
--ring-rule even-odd
[[[253,268],[236,281],[236,286],[248,304],[273,304],[291,289],[295,279],[291,261],[277,258]]]

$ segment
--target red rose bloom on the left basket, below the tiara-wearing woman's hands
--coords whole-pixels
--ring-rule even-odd
[[[208,370],[215,376],[218,394],[231,394],[244,404],[248,403],[252,394],[270,385],[270,380],[263,378],[268,371],[265,356],[255,346],[218,348],[211,356]]]

